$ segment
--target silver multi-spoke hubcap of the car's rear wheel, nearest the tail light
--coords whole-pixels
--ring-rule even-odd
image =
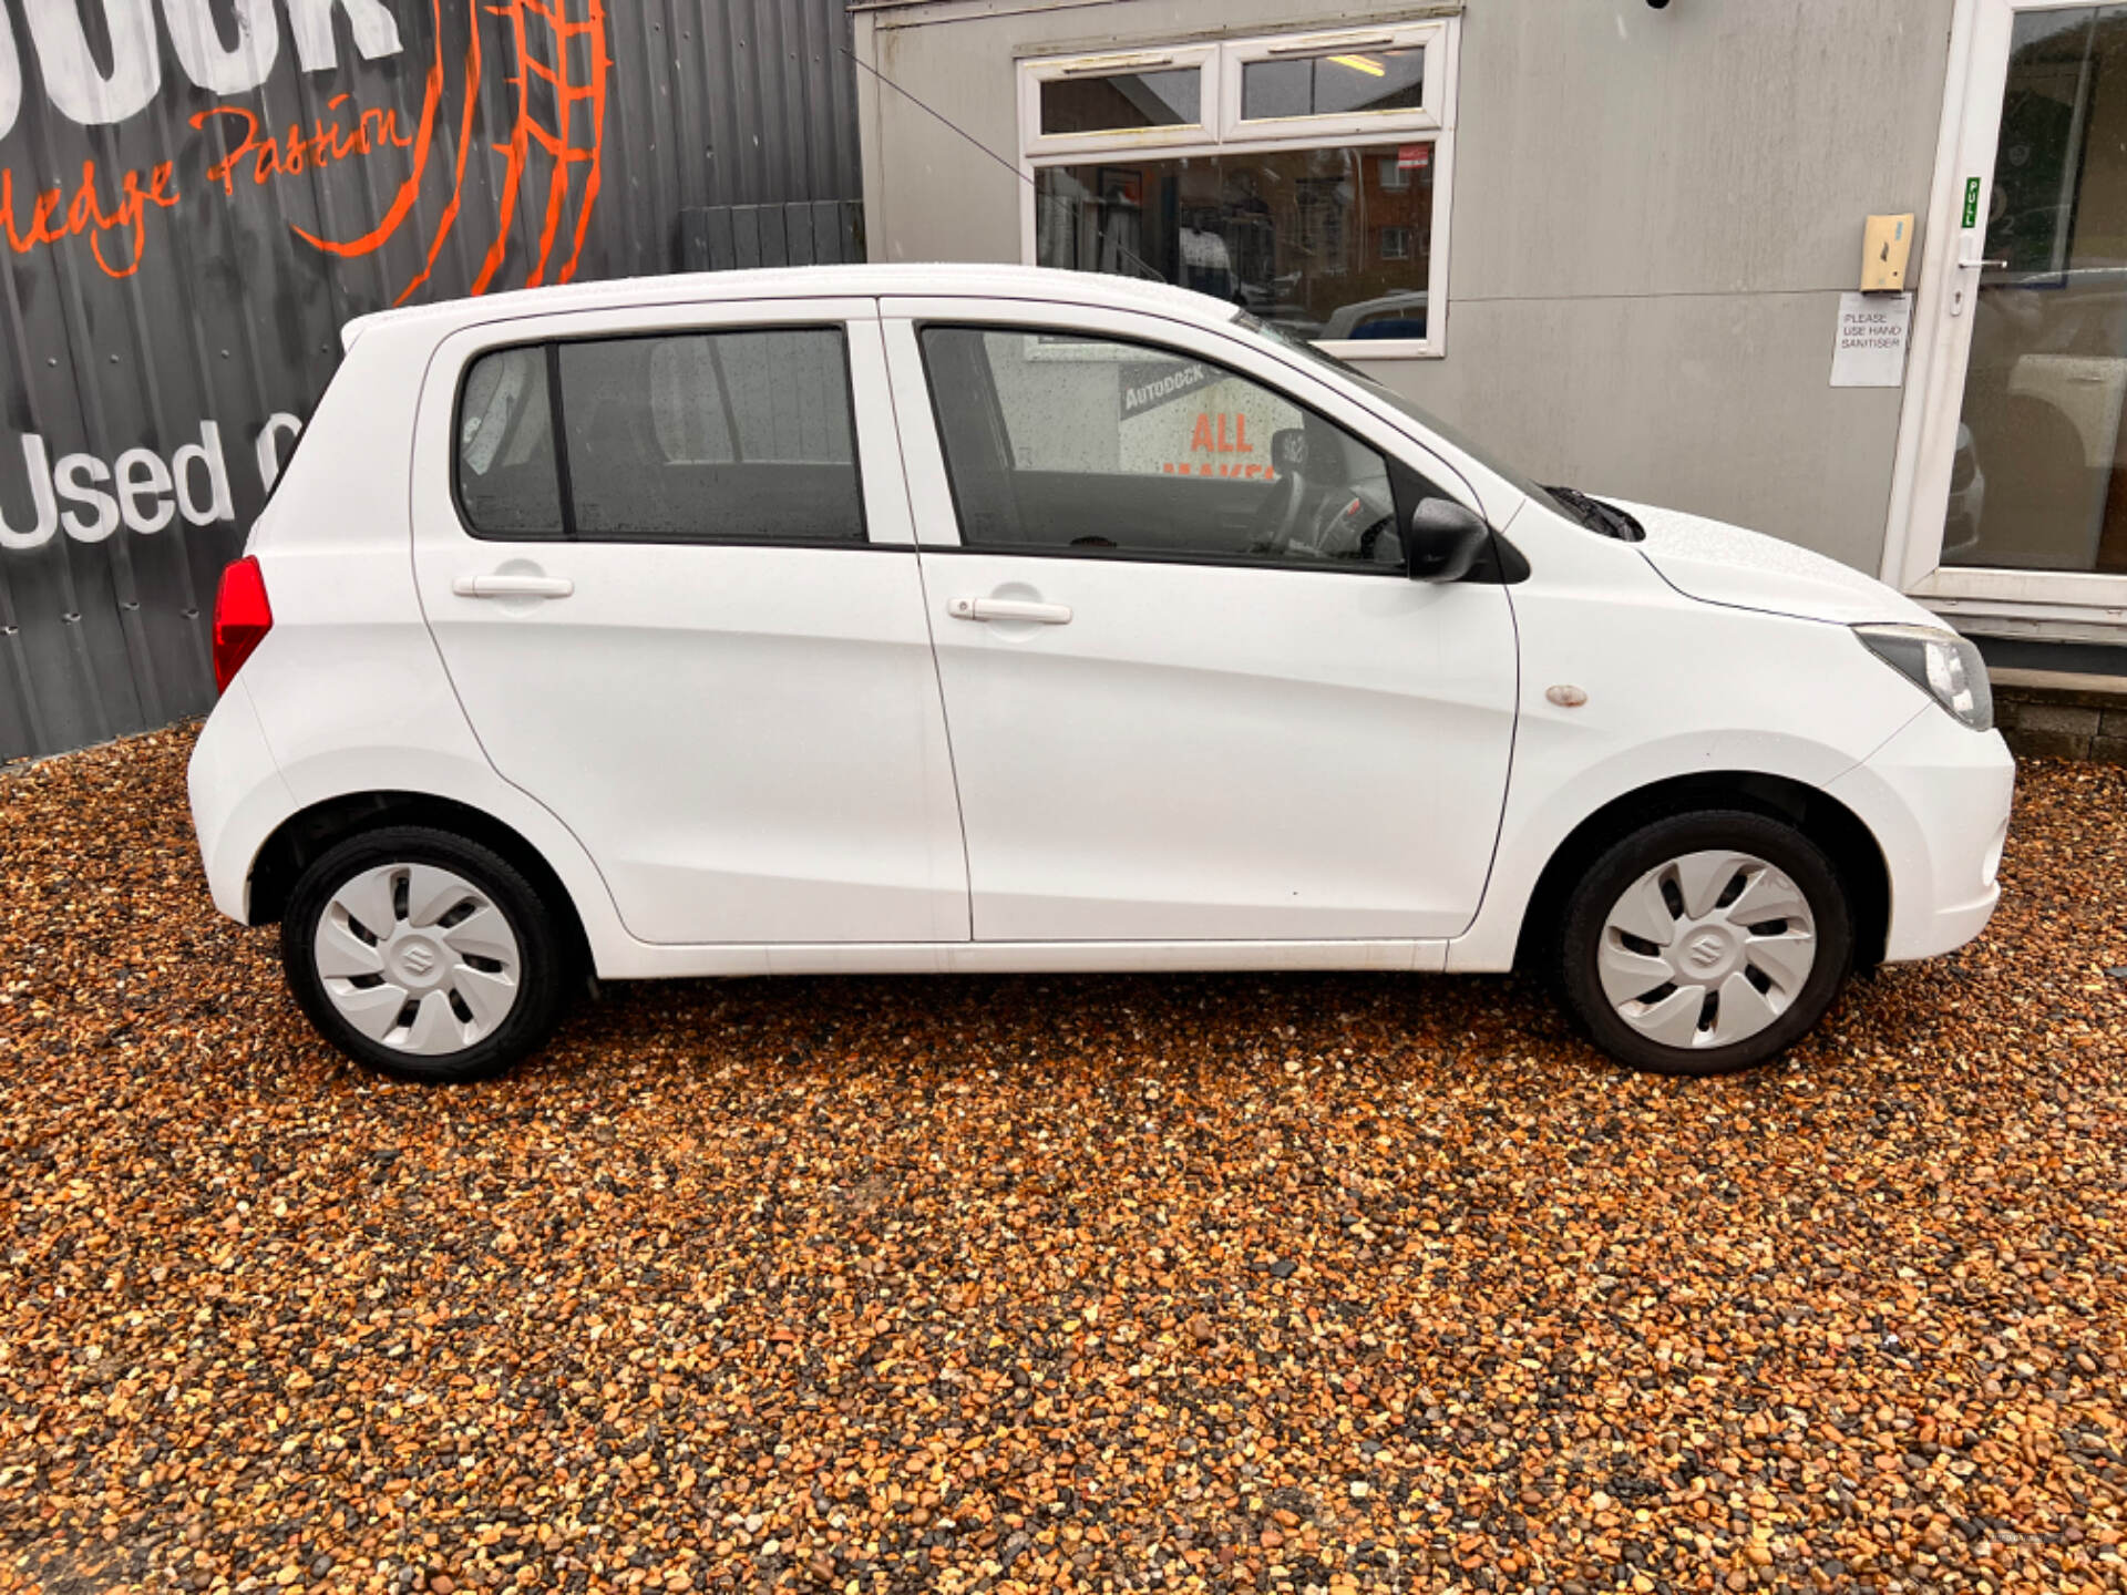
[[[400,1053],[462,1053],[517,1006],[523,959],[502,910],[432,863],[385,863],[332,893],[313,944],[332,1006]]]

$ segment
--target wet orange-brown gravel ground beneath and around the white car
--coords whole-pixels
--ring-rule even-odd
[[[1506,980],[621,987],[353,1072],[0,774],[0,1589],[2127,1586],[2127,772],[1789,1063]]]

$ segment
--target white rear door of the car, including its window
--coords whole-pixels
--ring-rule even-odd
[[[634,936],[968,938],[876,302],[468,330],[415,481],[472,729]]]

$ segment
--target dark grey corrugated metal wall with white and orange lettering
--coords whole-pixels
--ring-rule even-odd
[[[338,328],[861,257],[842,0],[6,0],[0,759],[213,702]]]

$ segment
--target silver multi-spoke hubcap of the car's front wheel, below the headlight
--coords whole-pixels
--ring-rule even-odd
[[[1663,1046],[1727,1046],[1787,1012],[1816,966],[1808,897],[1748,853],[1687,853],[1625,889],[1595,972],[1619,1019]]]

